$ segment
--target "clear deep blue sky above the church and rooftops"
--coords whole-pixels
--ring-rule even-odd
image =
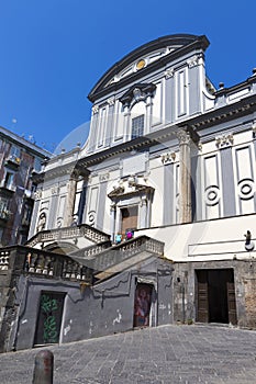
[[[256,67],[255,12],[255,0],[0,0],[0,125],[53,150],[89,121],[104,71],[168,34],[205,34],[209,78],[241,82]]]

